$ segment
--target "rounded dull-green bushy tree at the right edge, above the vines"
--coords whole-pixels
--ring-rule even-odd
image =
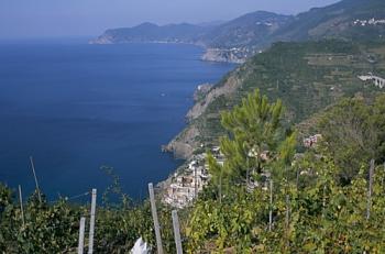
[[[339,167],[339,177],[349,183],[371,158],[384,162],[385,96],[374,103],[363,98],[344,99],[319,120],[322,144]]]

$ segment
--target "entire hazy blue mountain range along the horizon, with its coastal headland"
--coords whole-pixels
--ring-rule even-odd
[[[91,43],[189,43],[207,48],[202,56],[206,60],[243,63],[279,41],[367,41],[384,36],[385,0],[342,0],[296,16],[257,11],[229,22],[198,25],[143,23],[108,30]]]

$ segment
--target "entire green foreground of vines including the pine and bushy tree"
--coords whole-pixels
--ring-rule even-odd
[[[322,141],[301,154],[279,100],[271,103],[256,90],[222,113],[226,163],[208,154],[209,185],[178,211],[183,252],[385,253],[384,102],[380,95],[327,109],[315,126]],[[129,253],[141,236],[153,251],[177,253],[170,207],[133,203],[118,177],[102,197],[94,253]],[[48,203],[38,189],[23,202],[1,185],[0,252],[78,253],[80,218],[89,229],[90,214],[90,205]]]

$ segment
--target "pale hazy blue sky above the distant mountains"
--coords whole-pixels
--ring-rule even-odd
[[[266,10],[285,14],[338,0],[0,0],[0,38],[98,35],[109,27],[231,20]]]

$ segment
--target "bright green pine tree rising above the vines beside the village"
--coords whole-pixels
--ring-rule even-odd
[[[222,113],[221,123],[228,132],[220,139],[224,165],[218,165],[211,155],[208,157],[212,183],[220,186],[219,191],[227,185],[248,185],[253,176],[258,178],[266,165],[273,165],[285,154],[288,146],[280,147],[283,141],[295,141],[295,135],[285,132],[283,111],[280,100],[270,103],[266,96],[255,90],[232,111]]]

